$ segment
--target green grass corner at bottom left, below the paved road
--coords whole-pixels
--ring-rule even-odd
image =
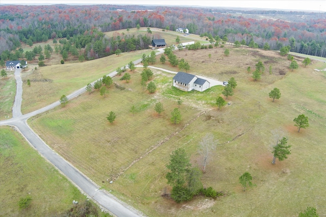
[[[86,197],[24,138],[10,127],[0,127],[0,215],[50,216],[62,214],[72,201]],[[32,197],[19,209],[20,198]]]

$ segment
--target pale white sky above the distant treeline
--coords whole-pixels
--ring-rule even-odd
[[[1,0],[0,5],[4,4],[17,4],[17,5],[166,5],[166,6],[201,6],[201,7],[232,7],[232,8],[259,8],[266,10],[291,10],[291,11],[314,11],[326,12],[326,0],[260,0],[260,1],[241,1],[241,0],[228,0],[228,1],[193,1],[193,0]]]

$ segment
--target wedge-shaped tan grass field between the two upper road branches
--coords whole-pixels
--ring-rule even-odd
[[[33,69],[32,73],[22,75],[23,95],[21,111],[23,114],[47,106],[68,96],[73,91],[86,86],[103,75],[115,71],[118,67],[127,65],[130,61],[140,59],[149,50],[111,55],[83,63],[60,64]],[[26,82],[31,80],[31,86]]]

